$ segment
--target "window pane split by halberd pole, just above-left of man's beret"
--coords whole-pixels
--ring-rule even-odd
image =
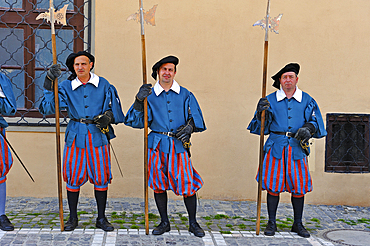
[[[73,30],[58,30],[56,33],[58,63],[65,67],[69,54],[73,52]],[[38,29],[35,38],[36,67],[47,68],[53,63],[50,29]]]

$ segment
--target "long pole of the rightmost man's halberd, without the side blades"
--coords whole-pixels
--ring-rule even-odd
[[[268,30],[269,30],[269,16],[270,15],[270,0],[267,2],[266,10],[266,32],[265,32],[265,45],[263,55],[263,79],[262,79],[262,97],[266,97],[266,80],[267,80],[267,55],[268,55]],[[257,195],[257,220],[256,220],[256,234],[260,234],[261,223],[261,196],[262,196],[262,165],[263,165],[263,144],[265,137],[265,110],[261,114],[261,132],[260,132],[260,155],[258,166],[258,195]]]

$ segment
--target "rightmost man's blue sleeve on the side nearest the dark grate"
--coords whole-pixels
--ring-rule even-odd
[[[312,99],[312,101],[308,104],[304,112],[304,116],[306,122],[315,126],[316,132],[313,135],[314,138],[322,138],[326,136],[327,132],[325,130],[324,121],[322,119],[319,106],[314,99]]]

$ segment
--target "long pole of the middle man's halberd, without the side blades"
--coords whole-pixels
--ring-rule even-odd
[[[143,84],[147,84],[146,75],[146,52],[145,52],[145,30],[144,30],[144,13],[143,1],[140,4],[140,24],[141,24],[141,53],[142,53],[142,70]],[[149,202],[148,202],[148,100],[144,99],[144,201],[145,201],[145,233],[149,234]]]

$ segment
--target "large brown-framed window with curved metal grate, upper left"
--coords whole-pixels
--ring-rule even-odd
[[[55,24],[58,63],[64,80],[71,52],[91,51],[91,0],[54,0],[56,9],[68,4],[67,25]],[[52,65],[50,23],[36,20],[49,0],[0,0],[0,71],[11,80],[17,100],[16,117],[9,125],[53,125],[53,116],[38,111],[47,68]],[[61,114],[66,124],[66,112]]]

